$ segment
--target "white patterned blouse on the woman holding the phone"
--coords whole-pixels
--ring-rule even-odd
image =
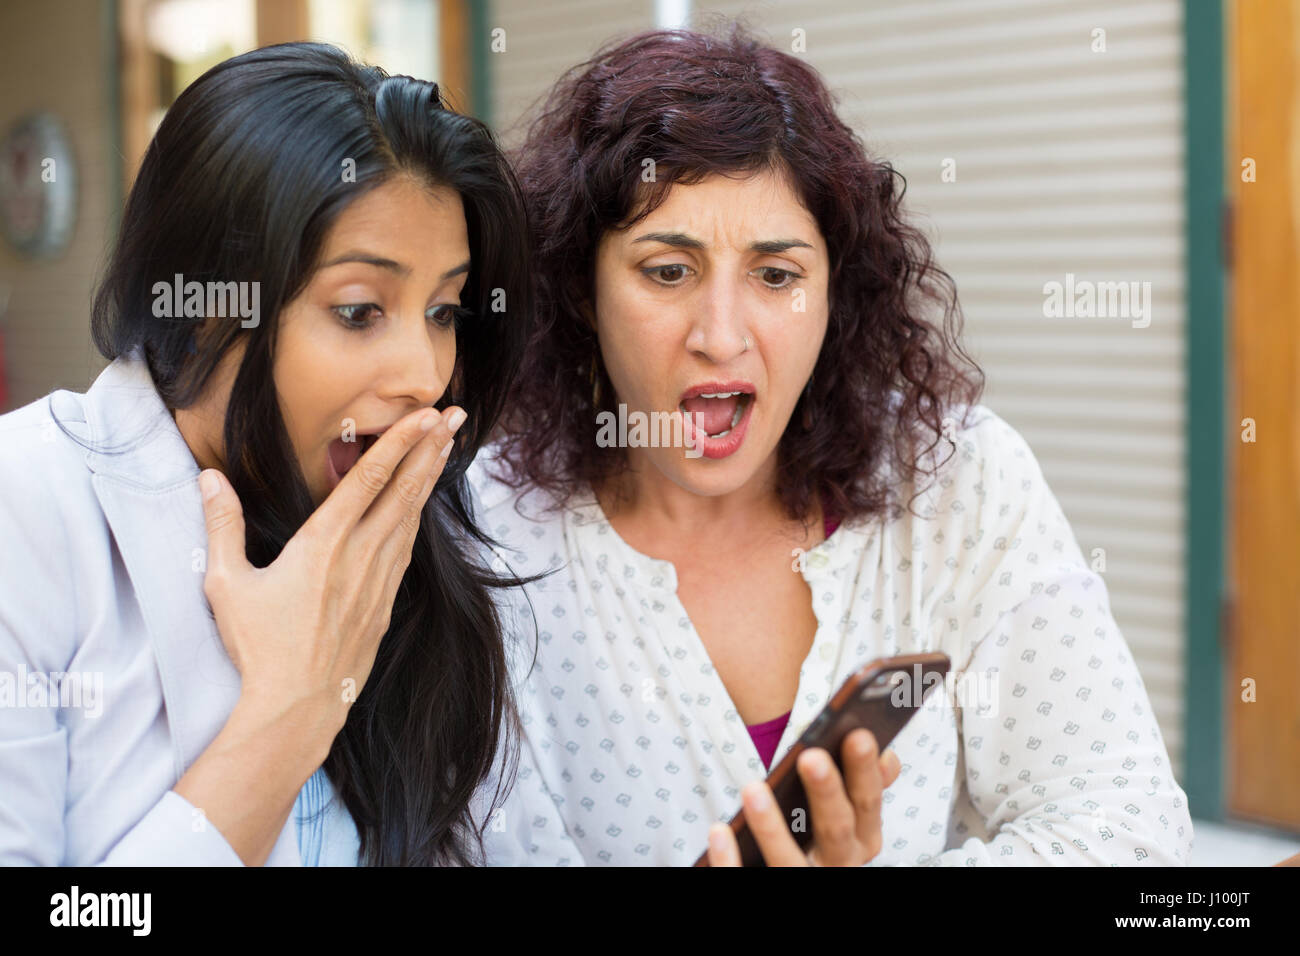
[[[1184,865],[1187,795],[1106,587],[1020,434],[971,411],[914,502],[926,518],[849,520],[797,561],[818,630],[775,760],[863,663],[942,652],[949,683],[893,741],[902,771],[868,865]],[[676,571],[623,541],[589,490],[551,514],[541,492],[512,492],[494,451],[471,467],[480,525],[503,545],[490,559],[555,572],[500,598],[526,737],[491,858],[689,865],[766,769]]]

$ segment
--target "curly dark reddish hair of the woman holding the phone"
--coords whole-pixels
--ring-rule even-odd
[[[984,376],[957,341],[952,277],[904,221],[902,174],[868,157],[816,70],[734,23],[720,36],[655,30],[607,44],[545,103],[515,155],[536,311],[503,420],[503,481],[563,503],[627,467],[623,449],[597,444],[593,362],[602,407],[614,395],[582,317],[597,243],[647,215],[673,183],[764,168],[793,183],[831,260],[826,339],[777,445],[786,514],[806,520],[814,496],[841,519],[883,514],[893,489],[937,471],[941,462],[926,468],[923,459],[952,438],[945,416],[978,401]],[[642,182],[646,159],[653,183]]]

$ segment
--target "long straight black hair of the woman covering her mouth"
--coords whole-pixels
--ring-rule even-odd
[[[325,44],[278,44],[213,66],[150,143],[95,295],[92,333],[109,359],[140,349],[170,410],[192,405],[244,342],[225,464],[243,503],[248,561],[265,567],[313,510],[272,377],[278,315],[307,285],[339,212],[395,176],[450,187],[464,204],[462,304],[471,317],[437,407],[469,416],[325,770],[358,825],[363,862],[473,864],[486,821],[474,825],[471,795],[498,745],[517,734],[490,589],[521,580],[473,557],[476,541],[491,541],[473,524],[465,479],[519,367],[528,308],[524,208],[491,133],[448,111],[436,83],[390,77]],[[153,284],[177,273],[260,284],[264,319],[247,329],[209,321],[200,332],[200,319],[156,316]]]

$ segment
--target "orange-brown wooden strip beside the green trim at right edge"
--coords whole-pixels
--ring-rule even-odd
[[[1300,831],[1300,0],[1236,0],[1227,10],[1232,600],[1223,643],[1225,813]],[[1251,441],[1247,419],[1254,423]]]

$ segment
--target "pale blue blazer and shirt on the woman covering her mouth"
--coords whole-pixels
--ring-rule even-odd
[[[0,865],[240,865],[172,790],[240,687],[198,476],[135,354],[0,416]],[[298,808],[326,812],[287,819],[268,865],[356,861],[332,796],[317,771]]]

